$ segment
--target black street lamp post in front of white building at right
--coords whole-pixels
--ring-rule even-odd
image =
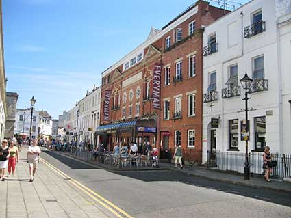
[[[248,125],[248,100],[251,99],[248,97],[249,90],[251,88],[251,83],[253,82],[253,79],[249,78],[248,74],[245,73],[244,77],[240,79],[240,83],[242,84],[242,87],[244,88],[244,98],[242,100],[245,100],[245,111],[246,111],[246,133],[249,133],[249,125]],[[246,134],[244,136],[244,140],[246,141],[246,160],[244,162],[244,180],[249,180],[249,173],[250,173],[250,168],[249,168],[249,149],[248,149],[248,141],[249,141],[249,135]]]

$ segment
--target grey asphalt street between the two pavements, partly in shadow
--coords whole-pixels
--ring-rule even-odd
[[[291,217],[288,193],[169,170],[107,172],[57,152],[42,158],[133,217]]]

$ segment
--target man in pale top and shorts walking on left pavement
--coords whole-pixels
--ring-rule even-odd
[[[29,182],[34,181],[34,174],[36,174],[36,165],[38,163],[38,155],[40,154],[40,147],[38,147],[38,139],[32,141],[32,146],[28,147],[27,150],[27,162],[29,165]]]

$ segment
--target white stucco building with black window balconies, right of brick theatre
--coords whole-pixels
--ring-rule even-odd
[[[290,1],[283,1],[285,14]],[[245,72],[253,79],[248,107],[249,152],[262,152],[268,145],[271,152],[291,153],[290,20],[278,27],[279,3],[282,1],[253,0],[205,27],[204,163],[207,151],[245,152],[241,138],[244,89],[240,84]]]

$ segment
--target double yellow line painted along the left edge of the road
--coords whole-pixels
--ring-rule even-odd
[[[121,208],[119,208],[118,206],[116,206],[115,204],[113,204],[112,202],[106,200],[104,197],[102,197],[101,195],[99,195],[96,192],[92,191],[88,187],[82,185],[77,180],[74,180],[70,176],[66,175],[64,172],[60,171],[60,169],[54,167],[53,165],[51,165],[49,162],[45,161],[41,157],[40,157],[40,160],[43,163],[45,163],[45,165],[47,165],[48,167],[50,167],[51,169],[53,169],[53,171],[55,171],[57,174],[60,174],[60,176],[62,176],[62,178],[68,180],[68,182],[71,182],[72,185],[74,185],[79,190],[81,190],[84,193],[86,193],[86,195],[92,197],[93,200],[95,200],[96,202],[98,202],[99,204],[101,204],[104,208],[106,208],[111,213],[113,213],[114,215],[116,215],[116,217],[119,217],[119,218],[124,218],[124,217],[126,217],[126,218],[133,218],[133,217],[131,217],[131,215],[129,215],[128,213],[126,213],[124,210],[122,210]]]

